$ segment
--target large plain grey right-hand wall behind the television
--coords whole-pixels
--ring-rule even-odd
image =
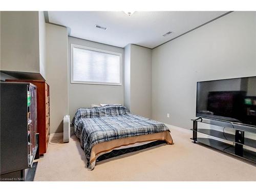
[[[154,49],[153,119],[189,129],[197,81],[256,75],[255,34],[255,12],[232,12]]]

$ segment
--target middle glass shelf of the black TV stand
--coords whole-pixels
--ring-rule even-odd
[[[190,129],[190,130],[193,131],[193,129]],[[209,135],[209,136],[212,136],[212,137],[217,137],[217,138],[220,138],[220,139],[223,139],[223,140],[226,140],[226,141],[231,141],[231,142],[238,143],[238,142],[235,141],[235,138],[234,138],[235,136],[232,135],[232,134],[229,134],[229,133],[224,133],[224,132],[220,132],[220,131],[216,131],[216,130],[210,130],[210,129],[197,129],[197,132],[205,134],[205,135]],[[238,144],[241,144],[241,143],[238,143]],[[243,145],[256,148],[256,140],[249,139],[249,138],[244,138],[244,144]]]

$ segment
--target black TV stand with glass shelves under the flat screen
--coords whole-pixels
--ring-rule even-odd
[[[193,121],[193,129],[191,129],[193,137],[190,139],[194,143],[198,142],[256,163],[256,140],[245,137],[245,133],[255,134],[256,137],[256,127],[202,118],[191,120]],[[209,127],[210,125],[222,127],[222,131],[209,127],[199,129],[198,123],[208,124]],[[232,133],[226,133],[225,129]],[[198,137],[198,134],[203,137]]]

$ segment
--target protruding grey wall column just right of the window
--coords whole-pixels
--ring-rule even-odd
[[[124,103],[133,114],[151,118],[152,50],[125,47]]]

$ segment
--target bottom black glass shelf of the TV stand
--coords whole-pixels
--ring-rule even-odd
[[[190,139],[193,140],[193,138],[190,138]],[[214,147],[217,150],[220,150],[220,151],[232,154],[232,155],[236,155],[235,151],[234,151],[234,146],[230,145],[228,143],[218,141],[215,139],[209,139],[209,138],[197,138],[196,141],[199,143],[202,143],[204,145]],[[236,155],[236,156],[238,156],[238,155]],[[243,149],[243,156],[242,157],[238,156],[238,157],[247,159],[249,161],[256,163],[256,152]]]

